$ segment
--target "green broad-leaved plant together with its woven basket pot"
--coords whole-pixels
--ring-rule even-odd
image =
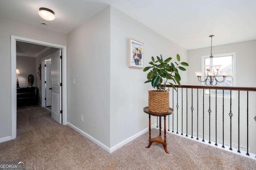
[[[165,113],[169,109],[169,90],[166,90],[166,83],[169,83],[175,90],[174,84],[180,86],[180,74],[178,70],[186,71],[186,68],[182,66],[188,66],[188,63],[180,62],[180,55],[177,54],[176,59],[178,61],[172,63],[172,58],[164,60],[162,55],[160,57],[151,57],[149,64],[143,69],[144,72],[150,70],[147,74],[148,80],[144,83],[151,82],[153,88],[156,90],[148,91],[148,110],[157,113]],[[180,66],[182,65],[182,66]],[[172,82],[168,82],[171,80]]]

